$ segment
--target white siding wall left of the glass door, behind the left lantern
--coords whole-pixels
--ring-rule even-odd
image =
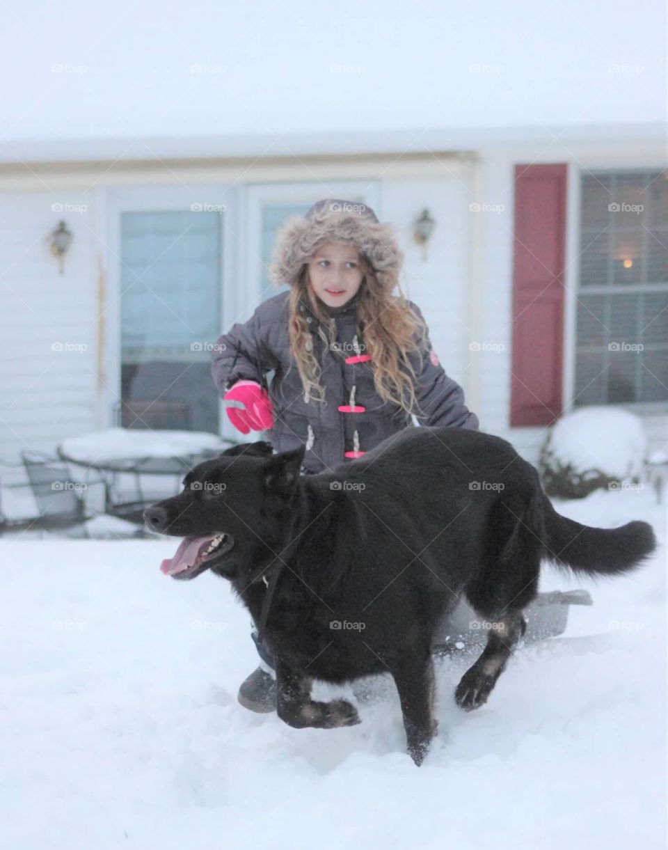
[[[0,191],[0,455],[52,450],[95,428],[97,266],[91,193]],[[65,274],[49,249],[60,213],[75,232]],[[65,349],[55,351],[54,343]],[[83,348],[85,347],[85,348]],[[79,350],[82,349],[82,350]]]

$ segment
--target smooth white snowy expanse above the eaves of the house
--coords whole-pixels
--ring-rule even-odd
[[[10,0],[0,139],[665,121],[665,19],[664,0]]]

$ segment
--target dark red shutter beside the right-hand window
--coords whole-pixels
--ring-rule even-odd
[[[515,167],[510,424],[562,411],[566,165]]]

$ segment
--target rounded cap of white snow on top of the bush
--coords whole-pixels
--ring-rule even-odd
[[[611,405],[582,407],[551,429],[551,465],[584,473],[596,468],[620,480],[641,476],[647,463],[647,434],[635,413]]]

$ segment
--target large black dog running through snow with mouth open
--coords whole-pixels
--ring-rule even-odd
[[[410,756],[436,733],[433,632],[463,595],[489,628],[456,702],[482,706],[524,634],[541,558],[588,575],[632,570],[651,526],[591,528],[556,513],[538,473],[506,440],[406,428],[332,472],[300,475],[303,447],[235,446],[199,464],[146,522],[185,536],[161,570],[232,582],[275,655],[279,717],[296,728],[359,723],[346,700],[310,699],[313,678],[390,672]]]

